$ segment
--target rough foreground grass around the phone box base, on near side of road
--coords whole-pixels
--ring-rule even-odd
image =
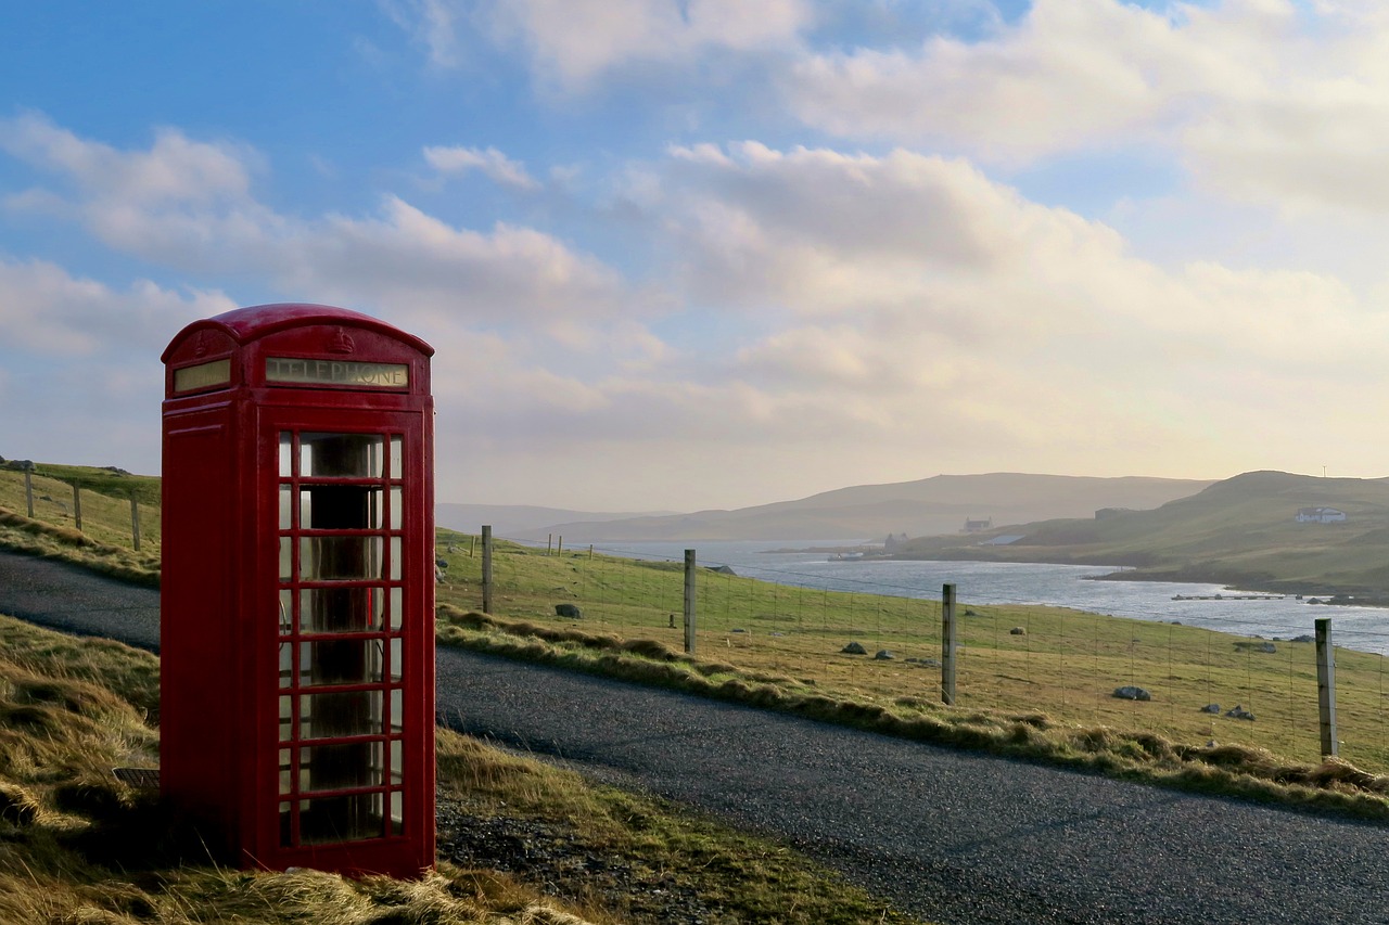
[[[0,617],[0,921],[911,921],[779,844],[443,729],[429,876],[221,868],[111,774],[157,764],[157,696],[154,656]]]

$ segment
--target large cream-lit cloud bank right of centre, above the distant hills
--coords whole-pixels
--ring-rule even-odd
[[[788,453],[1182,472],[1195,444],[1232,460],[1229,431],[1325,419],[1381,376],[1389,315],[1338,279],[1164,269],[965,161],[745,143],[672,149],[661,181],[683,289],[746,318],[700,374],[757,396],[725,406],[725,440],[757,421]]]

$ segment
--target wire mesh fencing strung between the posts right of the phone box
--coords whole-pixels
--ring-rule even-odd
[[[449,568],[440,600],[478,607],[478,556],[461,543],[442,551]],[[699,564],[700,658],[826,693],[940,703],[939,585],[826,579],[796,565],[758,567],[758,579],[738,571],[718,561]],[[499,543],[493,553],[499,615],[578,622],[674,650],[683,647],[683,562],[672,556],[514,543]],[[1304,607],[1306,626],[1274,639],[1268,621],[1254,617],[1193,626],[1035,606],[1000,599],[978,583],[957,585],[957,592],[956,708],[1046,714],[1057,722],[1154,732],[1186,744],[1214,740],[1321,760],[1313,622],[1331,608]],[[582,617],[561,617],[557,604]],[[1389,651],[1389,621],[1378,619],[1382,611],[1365,612],[1347,624],[1351,628],[1332,631],[1338,750],[1361,768],[1389,771],[1382,654]],[[858,649],[861,654],[853,654]]]

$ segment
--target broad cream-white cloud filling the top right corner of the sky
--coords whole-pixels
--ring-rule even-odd
[[[1276,208],[1389,208],[1383,4],[1224,0],[1146,10],[1036,0],[983,39],[804,57],[808,125],[1020,165],[1172,150],[1210,194]]]

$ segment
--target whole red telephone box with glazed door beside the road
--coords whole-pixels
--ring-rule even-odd
[[[164,351],[160,781],[243,865],[435,862],[432,354],[304,304]]]

